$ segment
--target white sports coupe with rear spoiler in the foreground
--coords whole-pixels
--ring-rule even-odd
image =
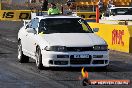
[[[18,60],[43,67],[105,67],[107,43],[75,16],[36,16],[18,33]]]

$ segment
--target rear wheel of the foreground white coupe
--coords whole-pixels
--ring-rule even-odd
[[[20,63],[28,63],[29,62],[29,57],[27,57],[23,54],[21,41],[18,42],[18,61]]]

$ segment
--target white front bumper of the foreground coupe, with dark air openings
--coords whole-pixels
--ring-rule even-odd
[[[89,55],[89,58],[74,58],[74,55]],[[42,51],[42,63],[45,67],[103,67],[109,64],[109,51]]]

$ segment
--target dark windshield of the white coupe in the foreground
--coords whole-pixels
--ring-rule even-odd
[[[87,22],[82,22],[80,18],[43,19],[39,29],[46,33],[93,33]]]

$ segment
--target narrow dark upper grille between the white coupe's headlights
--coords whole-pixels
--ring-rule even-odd
[[[93,47],[67,47],[67,51],[70,52],[93,51]]]

